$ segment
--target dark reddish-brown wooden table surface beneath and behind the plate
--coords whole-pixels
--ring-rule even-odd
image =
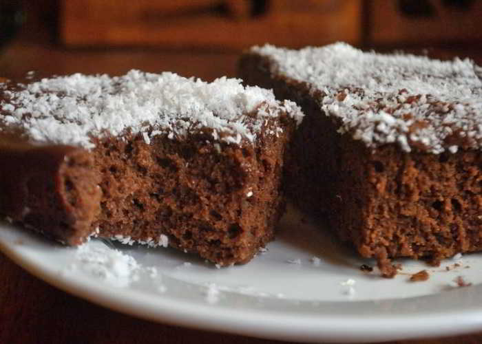
[[[453,50],[439,50],[445,57]],[[459,47],[479,63],[480,52]],[[156,50],[64,50],[45,32],[21,35],[0,52],[0,76],[14,78],[31,69],[47,74],[122,74],[132,68],[169,70],[212,80],[235,76],[238,54]],[[482,329],[481,329],[482,330]],[[151,323],[119,314],[32,277],[0,254],[0,343],[277,343],[262,339]],[[453,338],[397,342],[417,344],[482,343],[482,332]]]

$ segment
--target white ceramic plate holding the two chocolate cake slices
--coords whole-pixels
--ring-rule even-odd
[[[97,239],[86,245],[114,249]],[[359,269],[373,261],[359,259],[293,209],[268,251],[244,266],[218,269],[170,248],[115,247],[136,259],[136,278],[119,270],[117,279],[109,279],[85,268],[78,249],[0,222],[1,250],[33,275],[144,319],[304,342],[388,341],[482,330],[481,254],[448,259],[439,268],[400,261],[401,274],[383,279],[376,268],[370,273]],[[423,269],[428,281],[409,281],[410,274]],[[472,286],[457,286],[458,277]]]

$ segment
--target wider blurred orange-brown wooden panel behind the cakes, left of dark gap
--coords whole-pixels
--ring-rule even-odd
[[[339,40],[359,43],[359,0],[275,0],[269,1],[266,12],[259,15],[249,13],[251,3],[143,0],[123,1],[119,6],[116,0],[65,0],[61,1],[61,41],[69,46],[221,50],[240,50],[266,42],[292,47]]]

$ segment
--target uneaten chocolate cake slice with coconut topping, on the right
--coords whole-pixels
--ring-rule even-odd
[[[289,195],[387,277],[394,257],[482,249],[482,69],[344,43],[253,47],[250,85],[304,110]]]

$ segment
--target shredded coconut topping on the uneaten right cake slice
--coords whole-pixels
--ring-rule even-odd
[[[482,147],[482,68],[473,61],[376,54],[346,43],[252,51],[271,59],[271,73],[306,83],[325,114],[339,118],[339,133],[368,147],[396,143],[436,154]]]

